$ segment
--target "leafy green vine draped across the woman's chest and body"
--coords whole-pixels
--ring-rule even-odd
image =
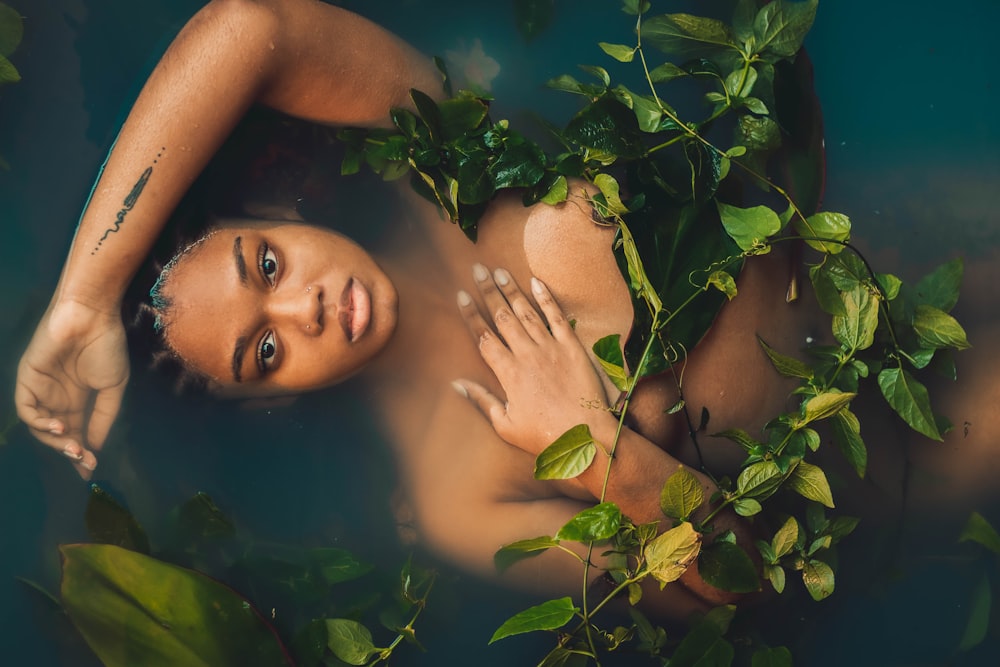
[[[409,173],[413,187],[473,240],[486,205],[502,190],[522,191],[525,205],[558,204],[570,195],[572,179],[596,186],[595,209],[618,228],[616,252],[636,314],[624,355],[617,335],[594,345],[603,369],[624,394],[619,432],[632,393],[642,378],[655,373],[674,372],[681,399],[669,411],[686,414],[683,371],[677,368],[683,369],[686,351],[704,335],[725,300],[736,296],[735,275],[744,260],[779,243],[804,243],[813,253],[809,280],[830,316],[836,343],[810,347],[809,361],[803,362],[760,340],[775,371],[799,381],[795,393],[801,401],[796,410],[771,419],[761,434],[739,429],[713,434],[746,454],[735,481],[713,477],[718,491],[705,498],[686,469],[672,475],[665,480],[660,507],[674,527],[662,533],[656,523],[633,524],[602,493],[597,505],[555,535],[521,540],[497,553],[499,569],[548,549],[562,550],[581,563],[579,607],[568,597],[544,602],[515,615],[493,636],[497,641],[529,631],[557,631],[556,646],[540,665],[600,664],[603,652],[629,641],[660,658],[672,649],[672,665],[687,664],[685,655],[712,655],[719,664],[728,664],[734,649],[723,635],[734,607],[716,609],[684,639],[671,643],[635,607],[642,598],[641,582],[652,577],[667,585],[697,562],[702,578],[717,588],[759,590],[753,560],[731,532],[713,537],[713,519],[729,510],[756,517],[764,512],[765,501],[788,490],[804,499],[805,506],[793,515],[786,506],[772,513],[770,525],[778,530],[770,539],[756,541],[763,576],[781,593],[787,573],[797,572],[809,595],[821,600],[835,587],[828,556],[858,520],[826,516],[834,507],[830,485],[822,468],[807,461],[822,443],[817,428],[828,428],[859,477],[865,474],[867,449],[851,406],[865,380],[876,381],[889,406],[914,431],[940,440],[950,428],[933,413],[915,373],[934,362],[953,378],[950,352],[968,347],[961,325],[948,314],[957,300],[961,262],[939,267],[915,287],[876,273],[850,243],[848,216],[816,211],[822,149],[815,144],[821,136],[807,136],[803,149],[802,137],[782,130],[781,114],[789,105],[779,88],[801,83],[793,63],[804,58],[802,41],[817,6],[818,0],[773,0],[763,6],[740,0],[728,24],[689,14],[647,16],[649,2],[625,0],[623,11],[635,17],[635,43],[599,46],[619,63],[637,63],[647,90],[613,86],[608,70],[593,65],[581,69],[596,82],[570,75],[551,80],[551,88],[585,101],[564,128],[548,128],[559,152],[546,151],[506,120],[492,121],[490,100],[467,91],[440,103],[413,91],[416,113],[394,109],[395,131],[339,133],[348,147],[344,173],[363,163],[387,179]],[[653,66],[651,50],[679,57],[680,63]],[[667,103],[664,89],[682,79],[708,88],[705,117],[684,119]],[[801,105],[801,97],[795,102]],[[786,165],[795,159],[802,164],[810,148],[812,163],[804,161],[807,167],[798,170],[797,179],[782,185],[768,176],[775,158]],[[802,154],[790,157],[795,150]],[[746,205],[747,199],[760,203]],[[796,291],[793,281],[790,299]],[[708,418],[702,415],[702,425]],[[687,419],[694,424],[691,415]],[[692,438],[696,430],[691,429]],[[616,446],[617,437],[600,449],[613,459]],[[576,426],[538,456],[535,477],[574,477],[592,464],[597,450],[587,426]],[[707,511],[697,520],[701,508]],[[586,557],[567,542],[585,545]],[[612,586],[594,600],[589,582],[597,545],[610,555],[605,570]],[[623,593],[632,625],[602,628],[595,617]],[[775,661],[769,664],[790,664],[782,651],[763,648],[760,654]]]

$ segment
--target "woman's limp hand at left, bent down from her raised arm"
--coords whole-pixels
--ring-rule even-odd
[[[31,434],[84,479],[118,415],[129,363],[121,318],[76,302],[46,311],[17,368],[14,402]]]

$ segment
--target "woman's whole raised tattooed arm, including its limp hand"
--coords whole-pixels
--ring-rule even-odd
[[[181,196],[255,102],[330,124],[377,126],[430,94],[429,59],[314,0],[214,0],[142,89],[80,221],[49,308],[18,367],[18,415],[81,476],[97,464],[129,367],[125,289]]]

